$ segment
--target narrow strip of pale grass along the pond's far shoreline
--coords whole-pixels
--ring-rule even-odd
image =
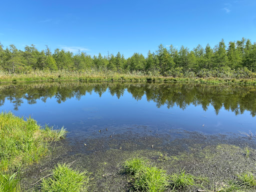
[[[256,78],[220,78],[220,77],[172,77],[150,76],[144,74],[121,74],[78,71],[33,72],[28,74],[3,74],[0,83],[39,82],[39,81],[88,81],[88,82],[194,82],[211,84],[251,84],[256,85]]]

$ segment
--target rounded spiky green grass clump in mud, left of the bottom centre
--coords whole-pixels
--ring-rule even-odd
[[[87,191],[89,176],[86,172],[71,169],[66,164],[57,164],[51,177],[42,180],[42,192],[79,192]]]

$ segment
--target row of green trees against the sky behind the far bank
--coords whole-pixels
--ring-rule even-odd
[[[192,50],[183,45],[168,48],[160,44],[155,52],[147,56],[134,53],[127,59],[119,52],[116,55],[91,56],[85,52],[73,54],[56,48],[52,53],[46,45],[38,51],[33,44],[18,50],[13,44],[5,49],[0,44],[0,70],[20,73],[32,70],[87,70],[117,71],[122,73],[141,71],[151,75],[163,76],[217,76],[219,71],[255,72],[256,43],[242,38],[225,45],[222,39],[213,48],[209,44],[203,48],[198,44]]]

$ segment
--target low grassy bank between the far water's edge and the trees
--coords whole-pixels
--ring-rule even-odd
[[[203,83],[235,83],[256,84],[256,78],[250,75],[191,75],[184,73],[175,76],[161,76],[159,74],[146,74],[143,72],[119,73],[114,71],[45,71],[35,70],[28,73],[7,73],[0,71],[0,82],[29,82],[29,81],[157,81],[157,82],[203,82]]]

